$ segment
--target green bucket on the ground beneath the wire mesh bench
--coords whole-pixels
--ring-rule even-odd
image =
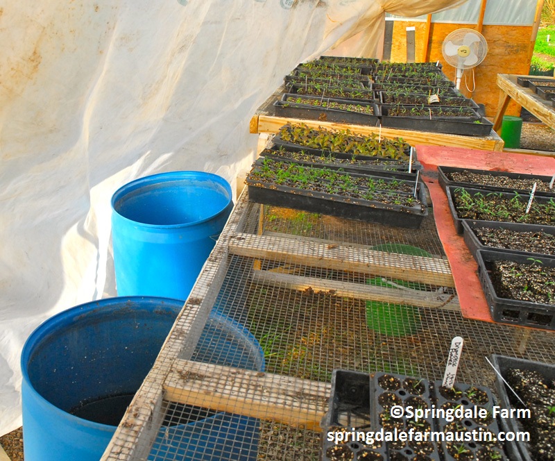
[[[427,251],[405,244],[383,244],[374,246],[373,249],[387,251],[388,253],[432,258],[432,255]],[[382,277],[370,278],[366,280],[366,283],[375,287],[395,287],[395,285],[400,285],[411,290],[426,290],[425,285],[417,282],[386,280]],[[386,336],[413,335],[421,326],[420,310],[411,305],[383,301],[366,301],[366,325],[370,330]]]

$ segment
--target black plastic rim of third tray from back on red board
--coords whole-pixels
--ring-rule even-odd
[[[546,253],[534,253],[530,251],[522,251],[522,250],[512,250],[506,249],[501,247],[495,246],[486,246],[482,242],[480,242],[479,238],[476,235],[475,230],[478,228],[493,228],[493,229],[506,229],[511,230],[515,233],[522,233],[522,232],[543,232],[551,235],[555,235],[555,226],[542,226],[540,224],[520,224],[514,222],[499,222],[499,221],[474,221],[470,219],[463,219],[462,221],[463,226],[463,237],[466,246],[468,246],[468,250],[472,254],[472,256],[477,259],[477,251],[478,250],[490,250],[490,251],[500,251],[502,253],[514,253],[518,255],[526,255],[527,258],[536,256],[546,256],[549,257],[549,254]]]

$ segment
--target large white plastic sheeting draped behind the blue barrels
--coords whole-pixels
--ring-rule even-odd
[[[234,185],[250,117],[298,62],[383,13],[462,0],[36,0],[0,6],[0,435],[20,419],[19,355],[41,321],[115,296],[110,197],[198,169]],[[362,49],[352,49],[357,56]]]

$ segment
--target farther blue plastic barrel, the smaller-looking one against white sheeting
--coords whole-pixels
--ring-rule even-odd
[[[187,299],[232,210],[231,187],[203,171],[132,181],[112,196],[118,296]]]

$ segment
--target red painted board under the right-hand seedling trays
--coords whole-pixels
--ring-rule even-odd
[[[451,266],[463,317],[493,321],[477,276],[478,266],[462,235],[456,233],[447,196],[438,184],[437,167],[442,165],[552,176],[555,174],[555,158],[443,146],[417,146],[416,150],[418,161],[424,166],[422,180],[432,197],[439,238]]]

